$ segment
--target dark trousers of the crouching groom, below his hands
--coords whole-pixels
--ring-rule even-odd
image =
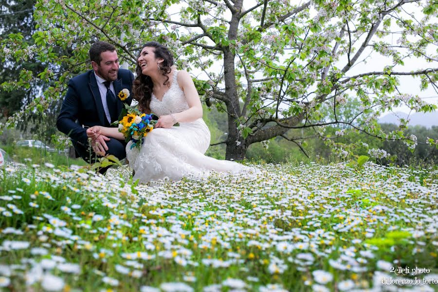
[[[110,138],[110,141],[106,141],[106,143],[108,146],[108,151],[105,151],[105,154],[114,155],[119,160],[126,158],[125,141]],[[76,150],[76,156],[80,156],[89,164],[95,163],[100,157],[102,157],[94,153],[91,146],[84,146],[83,144],[75,141],[73,141],[73,146]],[[98,172],[105,174],[108,168],[110,168],[110,166],[99,168]]]

